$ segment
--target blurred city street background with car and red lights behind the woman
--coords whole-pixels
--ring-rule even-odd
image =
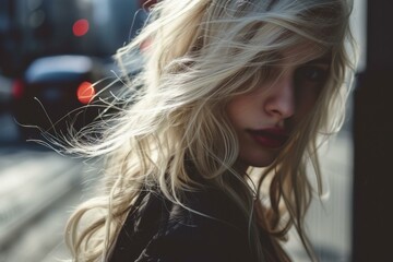
[[[100,85],[93,83],[116,78],[111,55],[138,33],[151,3],[0,0],[0,262],[68,258],[66,221],[91,194],[99,165],[29,142],[40,139],[34,127],[61,133],[70,122],[83,128],[99,114],[99,107],[78,108],[100,93]],[[358,72],[365,68],[366,12],[366,0],[355,0],[353,29],[362,53]],[[325,262],[352,258],[350,103],[343,131],[321,151],[329,198],[322,205],[317,201],[307,218],[317,253]],[[287,249],[294,261],[307,261],[296,237]]]

